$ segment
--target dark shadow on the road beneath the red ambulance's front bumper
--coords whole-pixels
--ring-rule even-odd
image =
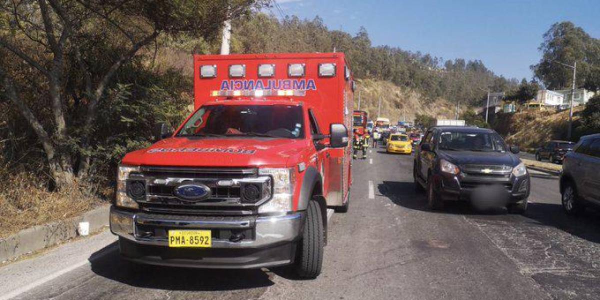
[[[262,269],[194,269],[128,262],[121,259],[116,242],[92,254],[89,262],[92,271],[101,277],[149,289],[220,291],[254,289],[274,284]]]

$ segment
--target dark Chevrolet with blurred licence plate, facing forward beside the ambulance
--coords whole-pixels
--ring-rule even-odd
[[[417,190],[427,189],[432,209],[445,201],[473,205],[505,205],[509,212],[527,209],[530,180],[517,157],[494,130],[476,127],[432,127],[415,151],[413,176]]]

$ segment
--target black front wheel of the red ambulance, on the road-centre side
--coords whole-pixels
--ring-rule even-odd
[[[304,221],[304,233],[298,244],[296,257],[296,274],[302,279],[314,279],[321,274],[323,252],[325,249],[325,226],[319,203],[308,202],[307,215]]]

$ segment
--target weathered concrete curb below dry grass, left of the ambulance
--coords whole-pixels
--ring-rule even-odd
[[[89,222],[89,231],[95,232],[109,224],[110,205],[103,205],[77,217],[23,229],[0,239],[0,262],[42,250],[77,236],[79,222]]]

